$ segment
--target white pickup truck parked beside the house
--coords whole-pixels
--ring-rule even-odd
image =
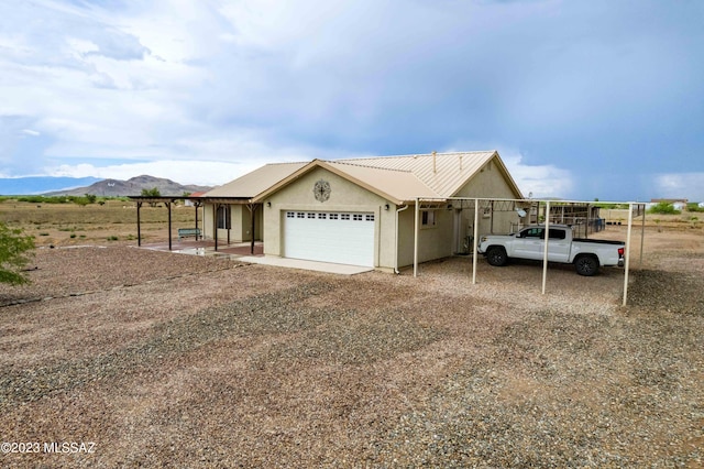
[[[534,259],[544,255],[546,227],[531,226],[513,234],[487,234],[480,239],[479,252],[490,264],[506,265],[508,260]],[[624,265],[625,244],[620,241],[572,238],[566,225],[550,225],[548,261],[574,264],[580,275],[594,275],[600,266]]]

